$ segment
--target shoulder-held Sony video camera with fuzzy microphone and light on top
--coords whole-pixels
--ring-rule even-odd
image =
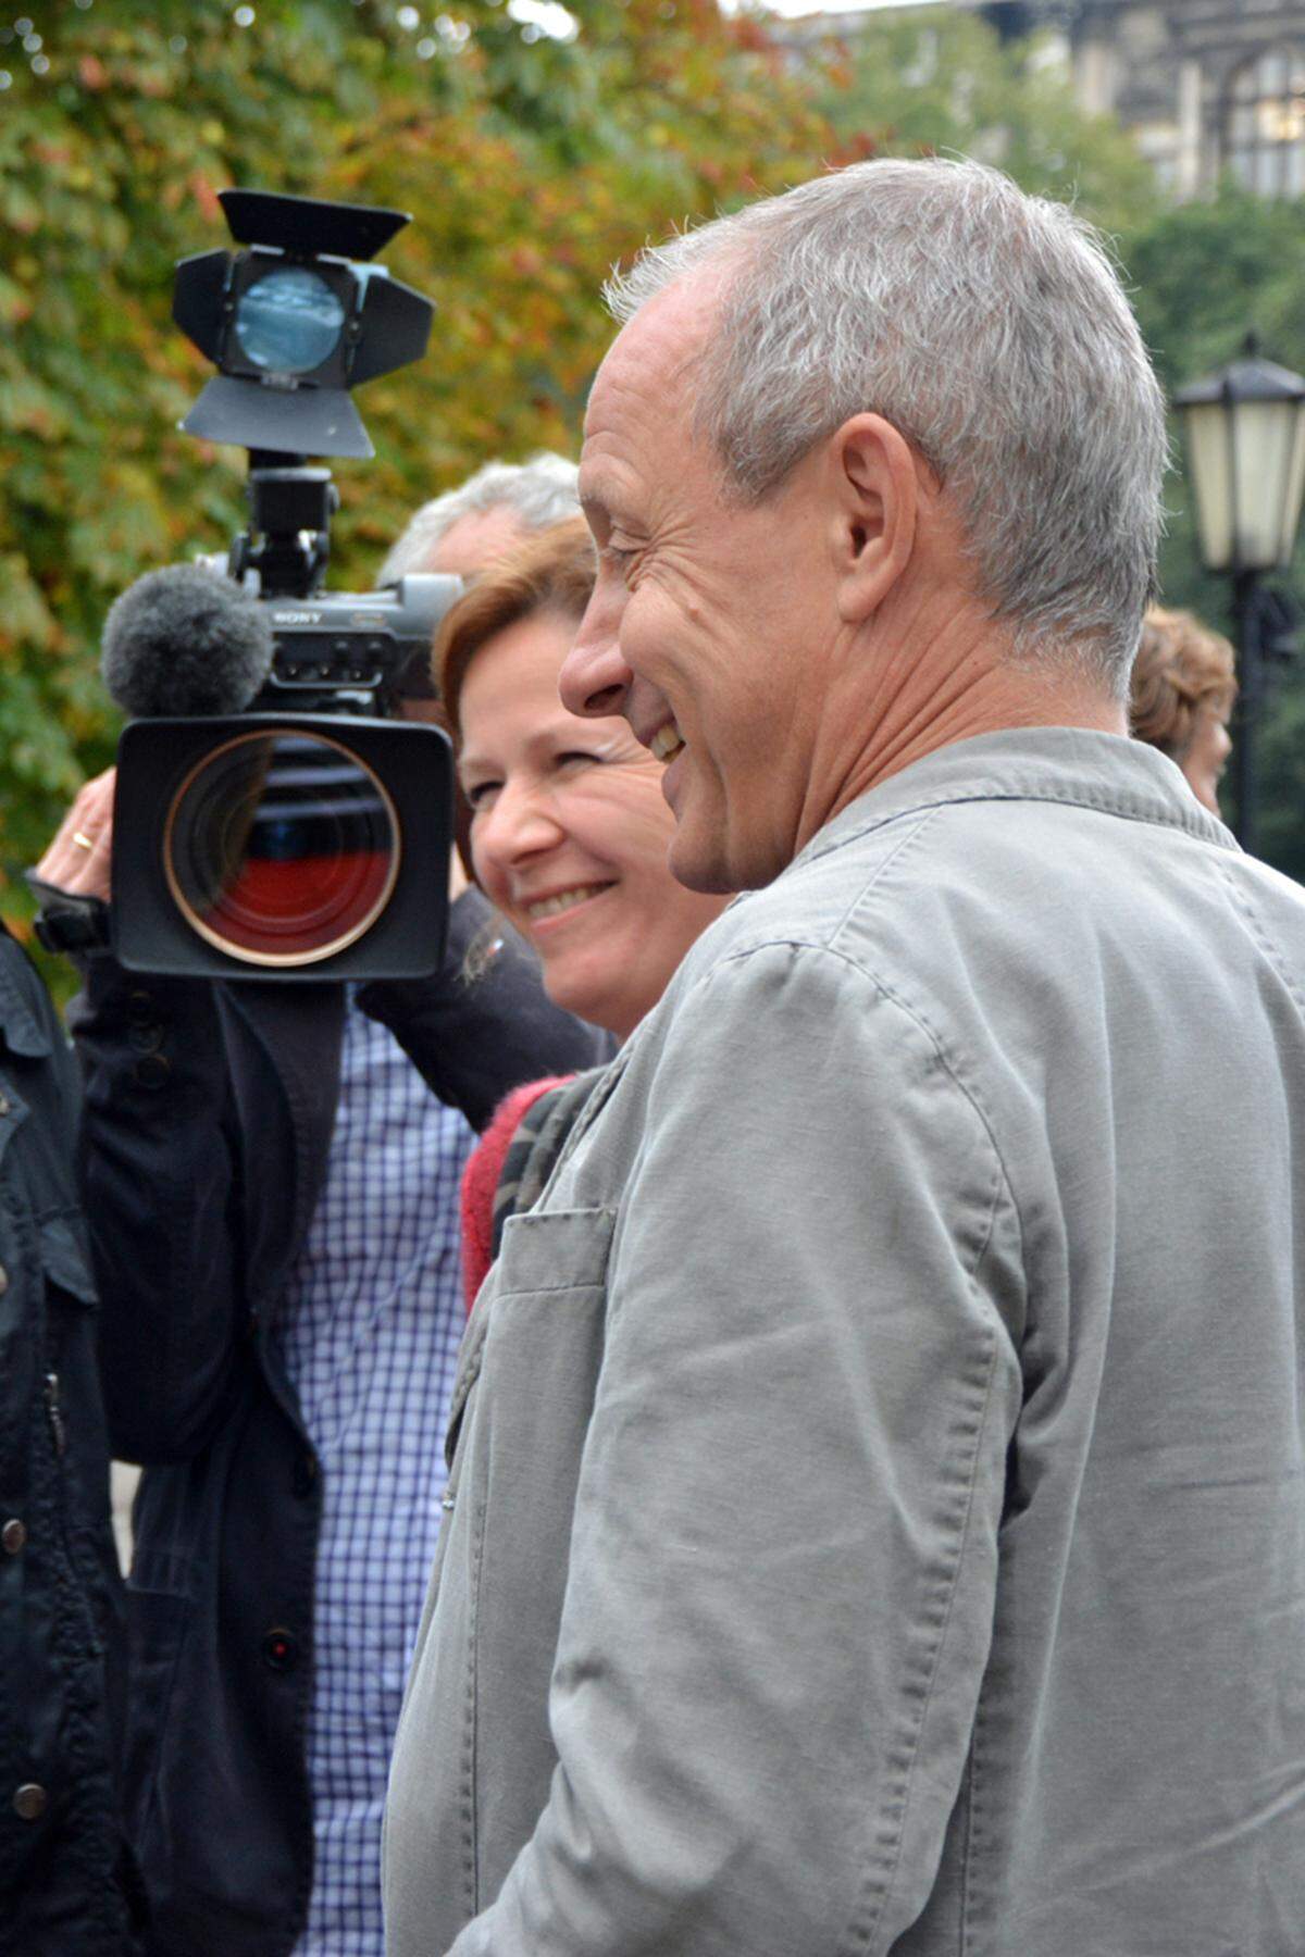
[[[225,190],[237,250],[176,270],[172,315],[219,370],[182,423],[250,450],[225,568],[153,571],[110,611],[113,951],[129,971],[401,978],[438,969],[452,755],[397,720],[432,699],[456,577],[323,589],[327,468],[370,456],[350,387],[421,358],[434,305],[368,260],[403,211]]]

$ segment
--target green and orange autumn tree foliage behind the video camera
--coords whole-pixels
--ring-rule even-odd
[[[491,0],[31,8],[35,68],[0,33],[0,908],[20,926],[18,871],[112,755],[108,603],[243,523],[243,454],[176,431],[209,370],[172,327],[172,266],[227,243],[219,188],[415,213],[385,262],[440,311],[427,360],[360,393],[378,458],[337,472],[333,569],[356,589],[487,456],[575,450],[612,260],[830,147],[808,82],[712,0],[573,0],[571,39]]]

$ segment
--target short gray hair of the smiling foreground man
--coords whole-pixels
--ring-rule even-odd
[[[957,497],[1015,652],[1127,697],[1168,450],[1100,235],[982,164],[882,159],[646,250],[607,303],[628,321],[708,260],[695,427],[726,485],[759,501],[851,415],[882,415]]]

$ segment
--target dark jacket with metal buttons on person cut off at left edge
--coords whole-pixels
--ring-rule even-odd
[[[76,1069],[0,926],[0,1949],[123,1957],[121,1581]]]

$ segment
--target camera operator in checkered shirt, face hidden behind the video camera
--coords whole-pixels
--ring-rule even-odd
[[[417,515],[383,575],[466,575],[573,511],[562,458],[491,464]],[[41,875],[108,894],[110,826],[102,777]],[[464,1319],[462,1166],[509,1088],[607,1053],[511,933],[464,978],[489,922],[466,890],[438,978],[348,994],[86,961],[106,1393],[115,1452],[145,1464],[127,1810],[151,1957],[383,1949],[382,1804]]]

